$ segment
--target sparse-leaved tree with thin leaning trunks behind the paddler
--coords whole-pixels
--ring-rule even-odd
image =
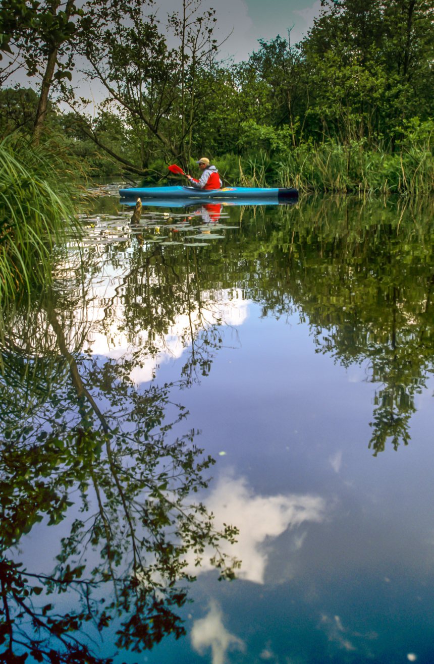
[[[169,48],[156,17],[143,17],[142,3],[90,6],[93,27],[80,47],[90,64],[87,76],[102,83],[106,104],[114,104],[140,143],[139,163],[116,155],[132,172],[145,173],[156,157],[187,164],[198,120],[196,106],[206,94],[198,80],[211,66],[217,48],[214,12],[201,14],[200,9],[200,1],[185,0],[179,15],[169,17],[169,30],[179,42]],[[113,153],[74,100],[71,104],[88,136]]]

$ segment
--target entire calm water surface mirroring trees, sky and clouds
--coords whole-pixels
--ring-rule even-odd
[[[90,208],[4,313],[0,652],[434,661],[432,203]]]

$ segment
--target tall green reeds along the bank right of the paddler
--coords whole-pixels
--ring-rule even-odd
[[[296,187],[301,192],[397,193],[426,195],[434,190],[431,137],[425,143],[401,145],[391,153],[367,150],[362,141],[342,145],[327,141],[304,143],[270,156],[224,155],[216,160],[233,185]]]

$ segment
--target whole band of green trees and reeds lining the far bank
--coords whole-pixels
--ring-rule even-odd
[[[183,3],[165,27],[142,9],[138,0],[89,0],[80,9],[72,0],[65,9],[57,1],[8,0],[0,13],[3,50],[21,49],[17,62],[30,74],[39,68],[43,84],[35,100],[29,91],[3,92],[3,133],[29,131],[33,112],[35,139],[42,122],[60,125],[95,173],[125,170],[146,182],[165,177],[173,161],[187,168],[198,155],[233,162],[225,157],[233,154],[241,167],[227,170],[232,183],[430,191],[429,1],[324,0],[299,44],[290,31],[259,40],[238,64],[217,61],[215,14],[201,0]],[[67,84],[76,53],[88,80],[106,91],[94,116]],[[53,86],[72,114],[49,108]]]

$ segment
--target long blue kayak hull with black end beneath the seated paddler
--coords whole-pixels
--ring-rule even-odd
[[[195,187],[135,187],[120,189],[122,198],[140,197],[141,199],[194,199],[195,201],[224,199],[296,199],[297,189],[265,189],[261,187],[223,187],[223,189],[195,189]]]

